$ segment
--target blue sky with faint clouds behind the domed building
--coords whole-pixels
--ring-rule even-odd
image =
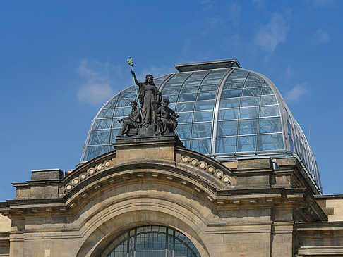
[[[308,138],[325,194],[343,193],[343,1],[1,1],[2,180],[73,169],[92,119],[175,63],[238,58],[274,82]]]

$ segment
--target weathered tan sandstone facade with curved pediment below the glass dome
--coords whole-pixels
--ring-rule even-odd
[[[296,158],[219,163],[176,137],[114,146],[66,177],[34,170],[14,184],[0,203],[0,256],[100,256],[140,225],[183,232],[202,257],[343,256],[343,199],[315,196]]]

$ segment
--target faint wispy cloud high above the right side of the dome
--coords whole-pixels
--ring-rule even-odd
[[[255,33],[255,44],[261,49],[273,52],[275,47],[286,41],[289,25],[283,15],[274,13],[269,23],[258,27]]]

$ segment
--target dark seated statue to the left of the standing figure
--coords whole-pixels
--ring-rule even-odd
[[[131,101],[131,107],[132,107],[132,111],[128,115],[128,117],[118,120],[119,123],[123,123],[123,127],[121,127],[121,133],[120,133],[121,137],[123,137],[124,134],[126,134],[127,136],[137,134],[137,129],[140,125],[140,120],[141,120],[140,111],[137,108],[136,101]]]

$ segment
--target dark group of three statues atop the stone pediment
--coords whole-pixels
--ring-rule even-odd
[[[162,102],[161,92],[154,84],[154,77],[149,74],[145,76],[145,82],[138,82],[133,70],[131,73],[139,88],[141,108],[138,108],[137,101],[131,101],[131,113],[128,117],[118,120],[123,123],[120,136],[152,137],[175,134],[179,115],[168,107],[169,99],[163,99]]]

